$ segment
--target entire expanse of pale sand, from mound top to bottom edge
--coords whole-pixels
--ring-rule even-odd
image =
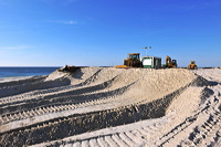
[[[0,146],[220,146],[221,70],[82,67],[0,83]]]

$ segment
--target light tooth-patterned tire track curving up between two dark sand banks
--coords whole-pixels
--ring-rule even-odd
[[[75,96],[74,102],[65,102],[65,103],[57,103],[53,105],[45,105],[32,109],[25,109],[25,111],[19,111],[15,113],[9,113],[0,116],[0,125],[7,124],[9,122],[13,120],[20,120],[20,119],[25,119],[34,116],[40,116],[44,114],[50,114],[50,113],[60,113],[63,111],[71,111],[71,109],[76,109],[81,107],[87,107],[87,106],[93,106],[102,103],[107,103],[109,101],[113,101],[114,97],[117,97],[119,95],[123,95],[134,83],[126,85],[124,87],[109,91],[109,92],[103,92],[103,93],[84,93],[83,95]],[[87,98],[85,98],[87,97]],[[93,97],[93,98],[92,98]]]

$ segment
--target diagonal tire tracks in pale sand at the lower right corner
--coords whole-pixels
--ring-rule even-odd
[[[178,146],[203,146],[201,141],[209,140],[207,139],[208,137],[207,134],[210,134],[210,132],[212,132],[213,137],[215,136],[215,133],[219,134],[218,130],[220,128],[220,120],[221,120],[221,116],[220,116],[221,109],[218,108],[219,105],[221,105],[221,102],[219,102],[217,98],[217,96],[220,97],[219,92],[218,92],[219,87],[220,85],[211,87],[215,92],[215,94],[204,102],[204,104],[202,105],[202,108],[200,108],[194,115],[188,117],[185,122],[182,122],[181,124],[172,128],[168,134],[165,134],[162,137],[160,137],[159,140],[155,143],[155,145],[170,146],[170,143],[173,139],[176,140],[176,137],[179,134],[183,134],[185,129],[190,129],[192,126],[196,126],[197,123],[200,123],[200,124],[203,123],[203,125],[201,126],[197,125],[193,128],[193,133],[189,134],[188,139],[181,140],[180,145]],[[208,114],[209,112],[210,114]],[[203,118],[201,117],[204,117],[204,114],[208,115],[209,118],[203,122]],[[215,117],[214,120],[213,120],[213,117]],[[206,127],[207,128],[212,127],[212,128],[207,129]]]

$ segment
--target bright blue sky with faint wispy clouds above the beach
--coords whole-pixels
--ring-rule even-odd
[[[221,65],[221,0],[0,0],[0,66]]]

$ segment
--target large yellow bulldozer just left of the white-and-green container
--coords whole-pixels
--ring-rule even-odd
[[[143,67],[139,53],[129,53],[128,57],[124,60],[124,65],[116,65],[115,67]]]

